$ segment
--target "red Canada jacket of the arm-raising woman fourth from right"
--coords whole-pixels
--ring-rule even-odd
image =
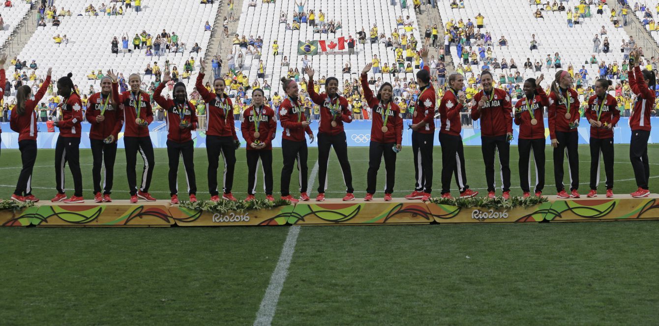
[[[536,95],[533,97],[530,107],[533,110],[533,117],[538,121],[535,126],[531,124],[531,115],[527,107],[527,97],[519,99],[515,103],[515,119],[513,122],[519,126],[519,139],[544,139],[544,107],[549,105],[549,97],[542,90],[542,87],[536,88]]]

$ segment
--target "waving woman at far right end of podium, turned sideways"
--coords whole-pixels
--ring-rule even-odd
[[[639,67],[639,55],[632,53],[636,58],[634,67],[629,65],[629,87],[636,94],[636,101],[629,117],[631,127],[631,140],[629,141],[629,159],[634,169],[634,177],[638,190],[631,193],[634,198],[647,197],[650,194],[648,182],[650,181],[650,162],[648,161],[648,139],[650,139],[650,112],[654,108],[654,86],[656,76],[653,71],[643,70]],[[649,86],[649,87],[648,87]]]

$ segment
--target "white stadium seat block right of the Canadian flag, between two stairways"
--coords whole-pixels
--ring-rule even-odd
[[[570,3],[574,4],[574,3]],[[609,15],[606,14],[610,9],[604,6],[604,15],[596,14],[596,5],[591,5],[592,16],[588,18],[581,18],[581,24],[576,24],[570,28],[567,25],[567,14],[565,11],[542,11],[543,18],[535,18],[533,16],[536,9],[541,9],[542,6],[529,5],[527,0],[508,0],[505,5],[490,5],[489,1],[469,1],[465,2],[463,9],[451,9],[449,1],[438,2],[440,15],[444,23],[453,19],[457,22],[463,19],[471,18],[475,24],[475,16],[480,12],[485,16],[484,28],[480,30],[483,34],[490,32],[492,35],[492,57],[501,59],[515,59],[517,69],[492,69],[492,73],[497,79],[501,72],[513,73],[516,71],[521,72],[523,78],[538,76],[538,72],[524,68],[524,63],[527,58],[530,58],[532,63],[540,61],[542,64],[542,73],[545,74],[544,84],[549,84],[554,78],[556,68],[547,69],[544,59],[548,54],[554,57],[554,53],[558,52],[561,56],[561,65],[563,69],[567,69],[568,65],[572,65],[575,72],[577,72],[582,65],[588,69],[588,80],[592,81],[597,75],[597,65],[588,65],[586,62],[592,54],[596,55],[599,62],[606,61],[606,63],[613,63],[617,61],[622,63],[623,54],[619,50],[619,42],[621,39],[627,40],[629,36],[622,28],[616,28],[610,22]],[[569,4],[565,3],[566,9],[569,9]],[[575,12],[575,8],[572,8]],[[595,34],[599,34],[602,26],[606,28],[608,34],[600,36],[602,41],[604,37],[608,37],[611,44],[611,51],[609,53],[593,53],[593,42]],[[530,50],[531,35],[535,34],[538,40],[538,50]],[[508,45],[499,47],[498,40],[501,36],[505,36]],[[567,37],[569,36],[569,37]],[[601,47],[601,45],[600,45]],[[476,47],[474,47],[476,49]],[[457,57],[457,50],[455,45],[451,46],[451,57],[453,63],[457,67],[461,60]],[[480,65],[472,67],[474,74],[480,74]]]

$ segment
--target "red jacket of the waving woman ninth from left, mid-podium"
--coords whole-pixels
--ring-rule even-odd
[[[309,97],[311,97],[311,100],[314,103],[320,105],[320,124],[318,124],[318,132],[329,134],[331,136],[343,132],[343,122],[353,122],[353,115],[351,115],[351,112],[348,109],[348,100],[340,95],[337,95],[337,98],[330,100],[327,93],[316,93],[316,90],[314,90],[313,78],[309,78],[309,82],[306,85],[306,89],[307,92],[309,92]],[[334,121],[336,121],[337,125],[333,127],[331,126],[332,117],[329,106],[335,105],[339,105],[341,107],[341,115],[337,115],[334,118]]]

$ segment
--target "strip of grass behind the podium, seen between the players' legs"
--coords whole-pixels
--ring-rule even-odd
[[[281,173],[281,150],[273,150],[273,171],[274,171],[274,195],[279,196],[279,173]],[[586,194],[589,190],[588,183],[590,181],[590,149],[587,145],[579,146],[579,177],[580,177],[580,188],[582,194]],[[54,168],[54,149],[40,149],[36,168],[34,169],[34,175],[32,177],[32,186],[34,187],[34,195],[42,199],[50,199],[55,196],[55,168]],[[659,145],[650,145],[648,146],[648,155],[650,157],[650,190],[658,189],[659,187],[659,177],[656,174],[657,169],[659,169],[659,161],[653,161],[653,157],[659,157]],[[236,198],[243,199],[247,195],[247,165],[245,161],[245,149],[239,149],[236,152],[237,164],[235,171],[235,180],[233,184],[233,194]],[[197,197],[200,200],[210,199],[208,194],[208,179],[206,176],[207,162],[206,159],[206,149],[196,149],[194,153],[195,161],[195,171],[197,178]],[[362,198],[366,194],[366,171],[368,171],[368,148],[350,148],[349,157],[351,161],[351,167],[353,170],[353,186],[355,188],[355,196]],[[513,196],[521,196],[521,189],[519,188],[519,173],[517,169],[518,161],[518,151],[517,147],[511,147],[511,192]],[[554,165],[552,162],[552,148],[547,146],[546,148],[546,186],[544,188],[545,195],[555,195],[556,187],[554,186]],[[309,158],[308,158],[308,167],[309,171],[312,171],[314,163],[316,163],[318,158],[318,153],[315,148],[309,149]],[[442,151],[436,146],[434,149],[434,177],[433,177],[433,188],[434,194],[439,196],[441,190],[440,182],[440,173],[442,171]],[[480,146],[469,146],[465,148],[465,159],[467,165],[467,181],[471,188],[478,190],[480,193],[479,196],[484,196],[486,192],[486,182],[485,182],[485,166],[482,161],[482,154],[480,152]],[[629,163],[629,146],[627,145],[616,145],[616,166],[615,166],[615,184],[614,191],[617,194],[625,194],[633,192],[637,189],[636,183],[634,181],[634,174],[631,170],[631,165]],[[414,189],[415,186],[415,177],[414,177],[414,161],[412,157],[411,148],[404,148],[401,153],[399,153],[397,158],[396,165],[396,183],[395,183],[395,192],[394,196],[402,197],[406,194],[409,194]],[[80,151],[80,164],[82,165],[82,176],[83,176],[83,186],[84,186],[84,196],[86,199],[93,199],[92,194],[92,152],[90,149],[82,149]],[[498,163],[497,163],[498,165]],[[565,162],[565,177],[563,182],[569,184],[569,176],[567,175],[567,161]],[[16,149],[4,149],[2,151],[2,159],[0,160],[0,173],[3,173],[5,177],[0,181],[0,198],[9,198],[16,187],[16,180],[18,179],[18,173],[20,172],[20,152]],[[220,166],[222,167],[221,161]],[[114,178],[114,189],[113,189],[113,198],[115,199],[129,199],[128,193],[128,183],[125,178],[125,167],[126,160],[123,149],[120,149],[117,152],[117,161],[115,163],[115,178]],[[497,194],[501,194],[500,184],[501,180],[498,177],[498,166],[495,169],[496,175],[496,184],[498,185]],[[142,160],[138,159],[137,169],[138,171],[138,180],[141,178],[142,173]],[[600,177],[600,192],[604,192],[604,163],[602,163],[601,177]],[[167,182],[167,173],[169,167],[167,165],[167,151],[165,149],[156,149],[156,168],[154,171],[154,178],[152,180],[152,186],[150,192],[154,197],[158,199],[168,199],[169,198],[169,186]],[[219,184],[221,188],[222,181],[222,170],[220,169],[219,175]],[[259,171],[260,173],[260,171]],[[326,196],[328,198],[341,198],[345,194],[345,186],[343,184],[343,178],[341,177],[341,169],[339,163],[336,160],[336,156],[331,153],[329,161],[329,184],[328,191]],[[384,163],[380,167],[378,182],[378,194],[376,196],[384,196],[382,189],[384,189]],[[69,189],[73,186],[71,174],[67,168],[67,186]],[[258,177],[259,184],[257,185],[258,198],[263,198],[263,186],[262,186],[262,177]],[[535,177],[532,177],[532,184],[535,182]],[[453,195],[457,196],[457,189],[455,188],[455,180],[451,184],[451,189],[453,190]],[[569,187],[569,186],[568,186]],[[291,194],[296,194],[298,188],[297,173],[293,173],[291,179]],[[314,186],[309,189],[310,196],[315,196],[316,188],[318,188],[318,178],[314,182]],[[179,165],[179,190],[183,192],[179,193],[182,198],[185,198],[185,172],[183,170],[183,164]],[[69,192],[69,196],[71,196]]]

